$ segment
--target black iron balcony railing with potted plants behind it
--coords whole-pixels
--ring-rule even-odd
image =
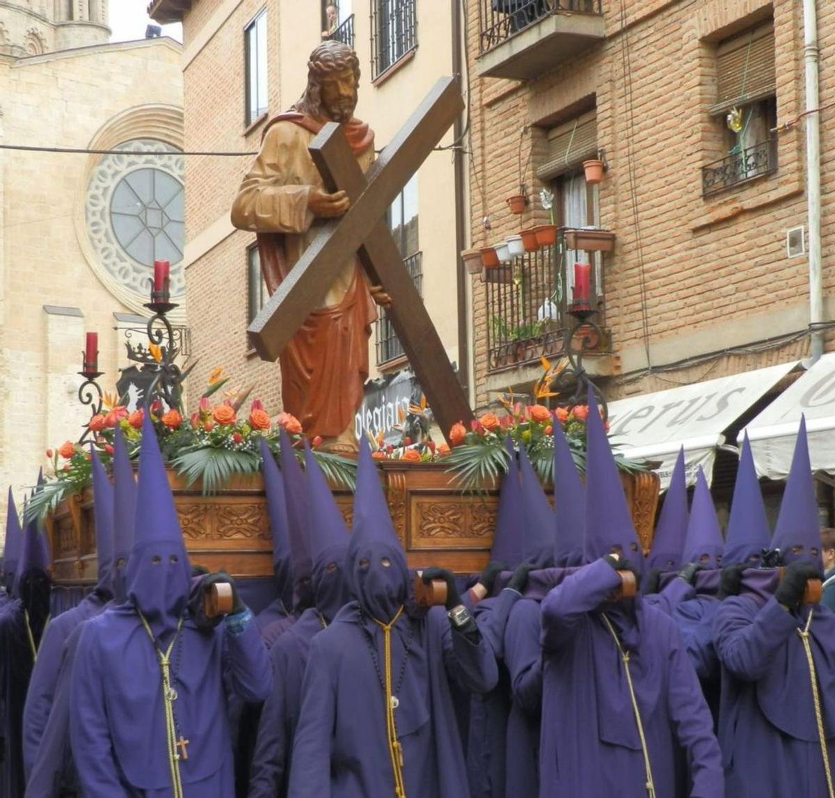
[[[590,261],[589,306],[603,325],[602,254],[588,253]],[[568,310],[574,285],[574,262],[583,260],[569,250],[564,231],[555,245],[484,270],[487,280],[488,371],[538,361],[558,355],[564,348],[564,331],[571,323]],[[605,341],[598,342],[600,346]]]

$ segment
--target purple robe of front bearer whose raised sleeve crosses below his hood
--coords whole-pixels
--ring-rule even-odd
[[[600,559],[566,577],[542,604],[539,796],[646,796],[624,664],[603,622],[605,612],[630,652],[656,795],[721,798],[719,745],[676,626],[640,597],[604,603],[619,583],[618,573]],[[680,746],[691,765],[687,786],[676,780]]]

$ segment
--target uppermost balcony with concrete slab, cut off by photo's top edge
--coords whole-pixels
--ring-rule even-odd
[[[482,78],[537,78],[605,37],[603,0],[478,0]]]

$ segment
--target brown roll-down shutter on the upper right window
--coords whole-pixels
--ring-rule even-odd
[[[722,113],[769,97],[776,91],[774,69],[774,23],[726,39],[716,52],[716,83],[719,96],[711,111]]]

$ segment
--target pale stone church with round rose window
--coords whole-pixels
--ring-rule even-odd
[[[87,331],[115,390],[154,257],[171,261],[185,320],[180,44],[110,43],[107,20],[107,0],[0,4],[0,143],[47,149],[0,150],[0,481],[18,507],[47,447],[89,420]]]

